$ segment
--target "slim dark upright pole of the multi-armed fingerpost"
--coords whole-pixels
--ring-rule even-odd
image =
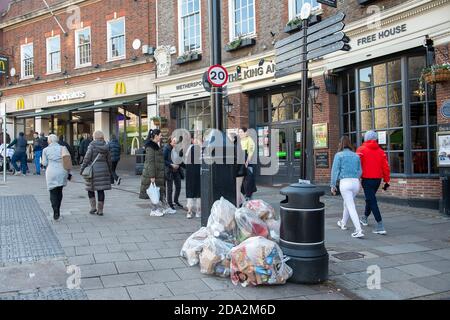
[[[301,121],[302,121],[302,163],[301,179],[306,179],[306,130],[307,130],[307,108],[308,108],[308,19],[302,20],[302,81],[301,81]]]

